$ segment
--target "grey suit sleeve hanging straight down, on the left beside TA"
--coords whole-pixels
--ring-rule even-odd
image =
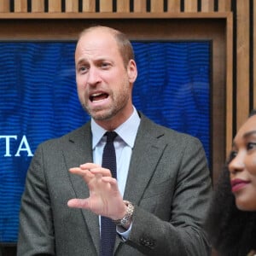
[[[52,212],[39,146],[28,169],[21,199],[17,255],[55,255],[54,245]]]

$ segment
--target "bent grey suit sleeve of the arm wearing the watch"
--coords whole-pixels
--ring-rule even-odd
[[[131,234],[126,242],[146,255],[211,254],[202,230],[212,191],[205,152],[199,140],[189,138],[180,155],[175,189],[170,195],[169,220],[163,220],[157,212],[135,207]],[[169,199],[166,198],[166,205]]]

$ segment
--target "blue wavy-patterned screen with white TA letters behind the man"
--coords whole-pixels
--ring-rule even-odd
[[[156,123],[198,137],[210,160],[211,42],[132,42],[133,101]],[[74,42],[0,42],[0,242],[17,240],[20,196],[38,143],[83,125]]]

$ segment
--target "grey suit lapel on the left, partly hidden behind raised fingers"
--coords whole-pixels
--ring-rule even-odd
[[[64,152],[65,160],[67,161],[67,170],[71,167],[93,161],[91,144],[90,123],[84,125],[78,131],[71,133],[69,147]],[[73,174],[69,174],[69,177],[77,198],[87,198],[90,196],[89,189],[81,177]],[[90,236],[97,253],[99,253],[100,228],[98,216],[88,210],[81,209],[80,211],[83,213]]]

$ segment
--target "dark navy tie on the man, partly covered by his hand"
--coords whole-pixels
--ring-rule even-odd
[[[102,167],[108,168],[112,177],[116,178],[116,157],[113,147],[113,140],[117,137],[115,131],[107,131],[104,136],[107,136],[107,143],[103,150]],[[112,219],[101,217],[101,256],[113,256],[113,247],[116,236],[116,227]]]

